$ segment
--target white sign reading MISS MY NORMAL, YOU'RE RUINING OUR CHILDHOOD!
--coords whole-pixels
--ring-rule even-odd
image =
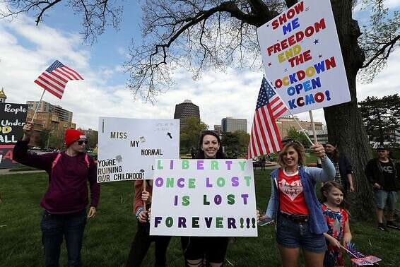
[[[179,158],[179,119],[100,117],[98,182],[153,179],[155,158]]]

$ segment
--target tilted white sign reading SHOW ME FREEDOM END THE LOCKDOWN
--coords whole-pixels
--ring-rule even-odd
[[[351,100],[330,1],[300,1],[257,33],[266,76],[292,113]]]

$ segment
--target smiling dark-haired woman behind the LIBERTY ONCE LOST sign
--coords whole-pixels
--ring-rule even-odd
[[[199,140],[198,159],[225,158],[219,136],[204,131]],[[204,260],[212,267],[223,266],[228,237],[181,237],[186,266],[203,266]]]

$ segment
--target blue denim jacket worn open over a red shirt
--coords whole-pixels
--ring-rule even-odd
[[[266,216],[276,218],[279,210],[279,190],[278,190],[278,170],[271,173],[271,198],[266,208]],[[305,204],[307,205],[310,215],[310,231],[320,235],[327,232],[327,222],[322,214],[321,204],[315,194],[315,186],[317,182],[327,182],[334,179],[336,170],[334,164],[325,158],[322,160],[322,169],[317,167],[299,167],[300,181],[302,183],[302,191],[304,193]]]

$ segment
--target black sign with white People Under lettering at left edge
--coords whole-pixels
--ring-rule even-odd
[[[17,164],[13,161],[13,148],[23,136],[27,113],[28,105],[0,103],[0,169]]]

